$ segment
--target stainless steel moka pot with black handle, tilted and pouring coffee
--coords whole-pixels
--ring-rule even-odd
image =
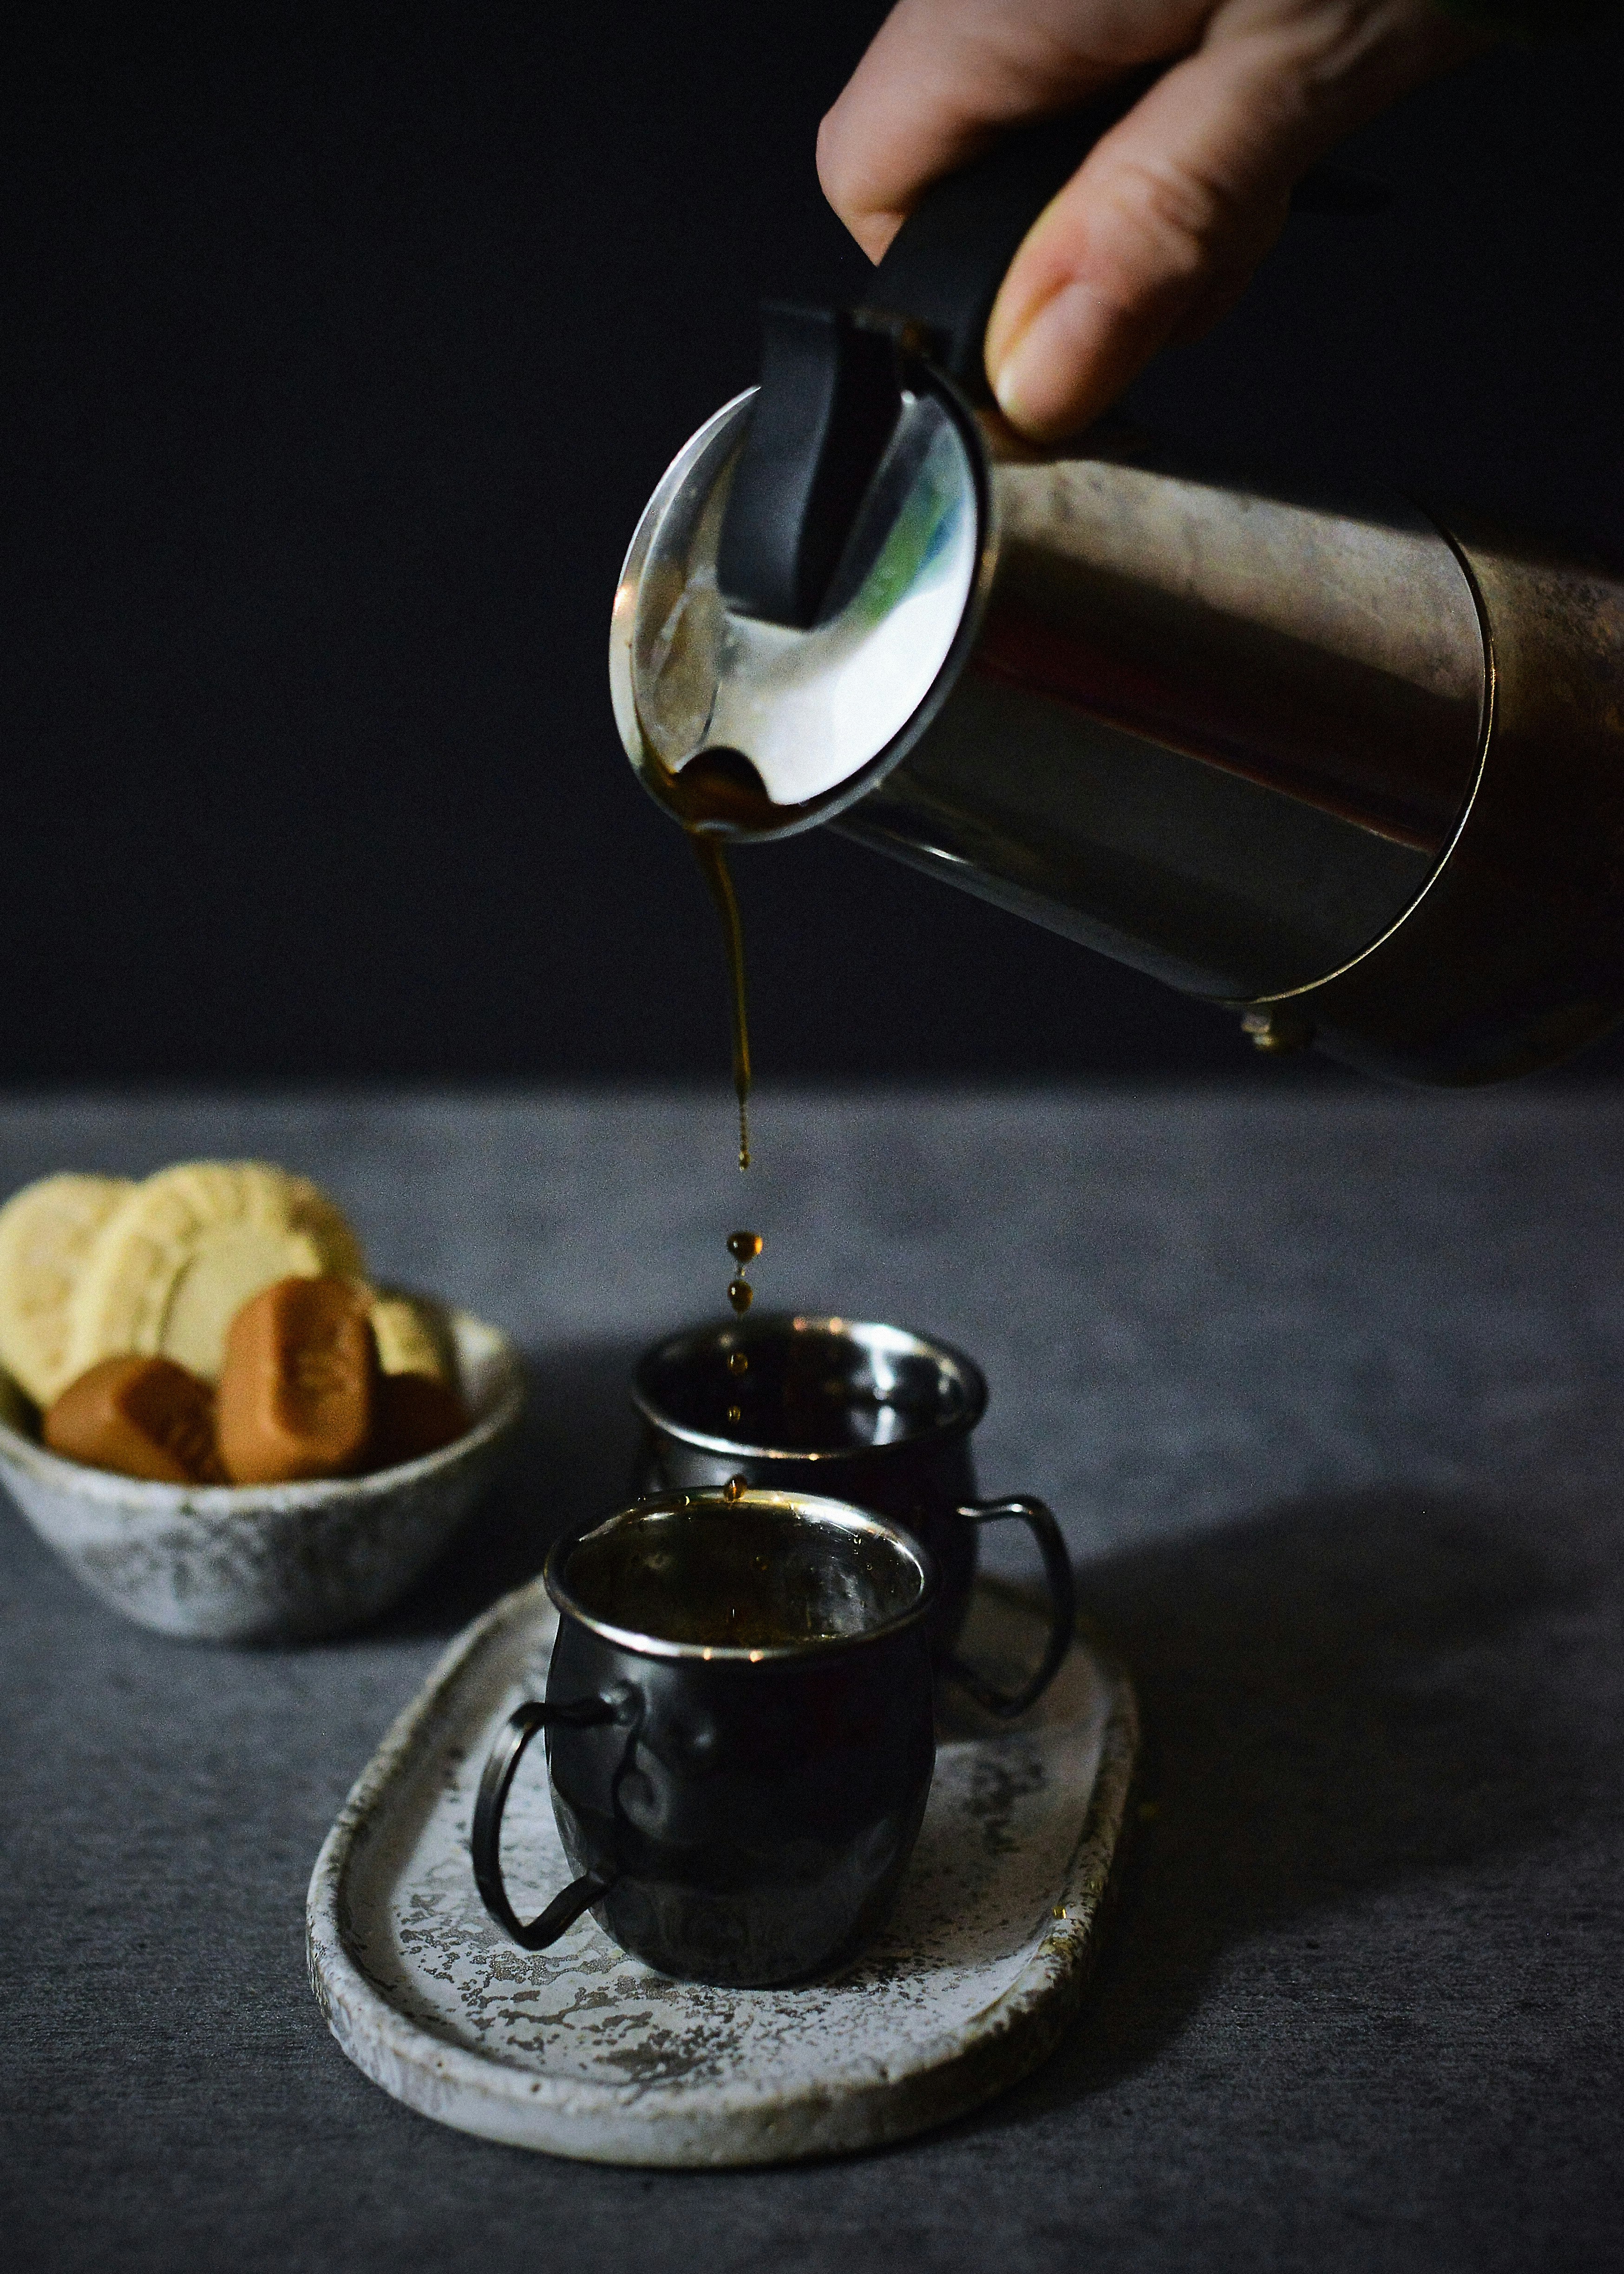
[[[762,384],[632,539],[610,678],[689,828],[830,823],[1374,1073],[1483,1082],[1624,1014],[1624,580],[1397,496],[1058,450],[980,343],[1094,121],[939,184],[871,307],[764,312]]]

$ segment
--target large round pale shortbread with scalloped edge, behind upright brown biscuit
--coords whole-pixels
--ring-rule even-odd
[[[343,1214],[303,1176],[257,1160],[159,1169],[107,1217],[80,1273],[66,1378],[136,1353],[214,1383],[232,1319],[264,1287],[364,1269]]]

